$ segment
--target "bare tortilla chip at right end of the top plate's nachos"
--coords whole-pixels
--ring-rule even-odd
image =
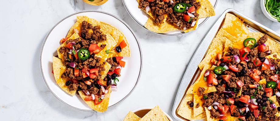
[[[200,2],[201,7],[198,8],[197,13],[199,14],[198,18],[205,18],[215,15],[215,10],[211,2],[208,0],[198,0]]]

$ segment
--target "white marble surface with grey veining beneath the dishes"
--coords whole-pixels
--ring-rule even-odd
[[[156,105],[172,117],[174,98],[192,55],[227,8],[234,8],[280,33],[280,23],[263,15],[259,0],[219,0],[216,16],[196,31],[172,37],[153,34],[140,27],[121,0],[109,0],[101,6],[88,5],[82,0],[1,0],[1,120],[117,121],[130,110]],[[138,36],[143,53],[142,76],[136,89],[105,113],[83,112],[61,103],[47,89],[39,66],[40,49],[47,32],[62,18],[91,9],[123,19]]]

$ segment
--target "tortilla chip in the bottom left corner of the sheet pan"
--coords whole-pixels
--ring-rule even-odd
[[[188,101],[193,102],[194,101],[194,95],[193,94],[187,94],[185,99],[183,100],[179,110],[178,110],[178,115],[182,116],[185,119],[189,120],[200,120],[200,119],[205,119],[206,114],[205,112],[199,114],[198,116],[193,115],[194,113],[194,108],[191,108],[189,104],[187,104]]]

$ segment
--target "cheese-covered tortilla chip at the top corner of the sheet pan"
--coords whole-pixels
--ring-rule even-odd
[[[242,37],[244,34],[249,34],[249,29],[243,24],[243,21],[230,13],[226,13],[222,28],[235,38]]]

